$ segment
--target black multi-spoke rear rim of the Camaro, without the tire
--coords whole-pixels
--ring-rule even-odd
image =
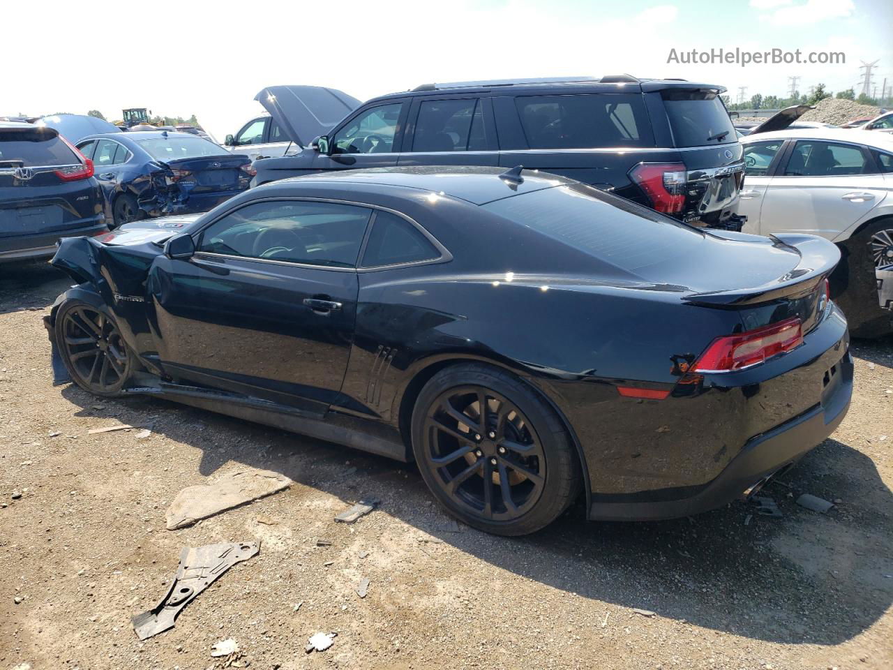
[[[426,416],[424,442],[438,486],[466,512],[512,521],[542,494],[546,457],[536,431],[490,389],[467,386],[439,396]]]

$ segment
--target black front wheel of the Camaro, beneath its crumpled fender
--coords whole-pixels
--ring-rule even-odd
[[[133,369],[133,356],[114,319],[72,300],[56,314],[55,340],[71,380],[96,396],[115,398]]]

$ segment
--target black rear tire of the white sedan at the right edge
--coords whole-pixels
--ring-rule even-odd
[[[885,230],[893,236],[893,218],[873,222],[841,242],[840,263],[830,275],[831,299],[843,310],[855,338],[875,339],[893,331],[891,314],[878,304],[872,252],[872,239]]]

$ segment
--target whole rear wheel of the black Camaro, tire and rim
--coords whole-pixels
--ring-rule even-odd
[[[536,532],[580,493],[563,423],[534,389],[496,367],[457,364],[435,374],[416,399],[412,428],[434,497],[481,531]]]

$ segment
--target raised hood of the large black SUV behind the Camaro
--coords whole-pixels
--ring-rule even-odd
[[[255,96],[299,147],[325,135],[362,103],[337,88],[268,86]]]

